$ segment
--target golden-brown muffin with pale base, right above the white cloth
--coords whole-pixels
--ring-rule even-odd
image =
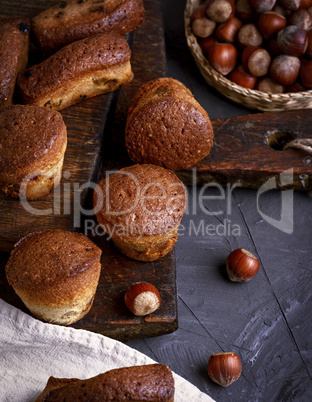
[[[69,325],[92,306],[101,254],[81,233],[34,232],[15,244],[5,267],[6,277],[35,317]]]

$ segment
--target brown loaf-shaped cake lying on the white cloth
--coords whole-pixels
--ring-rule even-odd
[[[113,369],[87,380],[50,377],[35,402],[43,401],[173,402],[174,378],[164,364]]]

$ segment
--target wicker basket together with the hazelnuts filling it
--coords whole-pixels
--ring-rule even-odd
[[[311,108],[311,5],[187,0],[187,43],[206,82],[251,109]]]

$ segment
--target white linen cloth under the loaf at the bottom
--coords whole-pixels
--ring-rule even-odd
[[[52,375],[90,378],[155,363],[129,346],[85,330],[45,324],[0,299],[0,401],[34,401]],[[175,401],[213,401],[173,374]]]

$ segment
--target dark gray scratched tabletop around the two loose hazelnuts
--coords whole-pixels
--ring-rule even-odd
[[[211,119],[254,113],[201,77],[184,38],[185,1],[162,0],[168,76],[182,81]],[[129,346],[168,364],[218,401],[312,400],[311,195],[188,188],[176,245],[179,329]],[[227,255],[244,247],[257,276],[230,282]],[[212,353],[234,351],[241,378],[228,388],[207,375]]]

